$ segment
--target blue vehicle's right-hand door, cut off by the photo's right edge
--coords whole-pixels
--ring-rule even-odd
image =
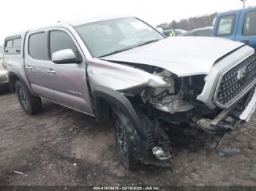
[[[241,11],[236,41],[244,42],[256,50],[256,9]]]

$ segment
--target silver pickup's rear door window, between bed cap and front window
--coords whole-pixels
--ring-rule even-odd
[[[46,32],[29,36],[29,55],[37,60],[49,60],[48,36]]]

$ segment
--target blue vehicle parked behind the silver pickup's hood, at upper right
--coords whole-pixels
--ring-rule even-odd
[[[213,35],[244,42],[256,50],[256,7],[217,15]]]

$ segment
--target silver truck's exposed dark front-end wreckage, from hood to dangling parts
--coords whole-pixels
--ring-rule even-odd
[[[228,130],[234,130],[244,124],[239,116],[252,98],[254,90],[247,93],[240,102],[229,109],[218,107],[209,109],[206,104],[197,100],[197,95],[200,95],[205,85],[206,75],[177,77],[176,74],[165,69],[152,69],[151,67],[147,67],[146,71],[150,71],[151,74],[165,81],[168,86],[137,87],[124,90],[122,93],[130,99],[131,103],[139,106],[151,120],[151,131],[156,143],[151,150],[158,160],[167,160],[173,156],[173,150],[170,148],[171,140],[167,136],[168,128],[173,125],[180,127],[187,125],[203,130],[216,142],[213,149],[218,155],[236,154],[233,151],[219,150],[219,144],[222,143]],[[168,128],[166,128],[166,123]],[[162,127],[162,124],[165,127]]]

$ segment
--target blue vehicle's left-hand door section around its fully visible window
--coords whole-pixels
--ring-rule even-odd
[[[214,24],[214,36],[235,40],[240,12],[219,14]]]

